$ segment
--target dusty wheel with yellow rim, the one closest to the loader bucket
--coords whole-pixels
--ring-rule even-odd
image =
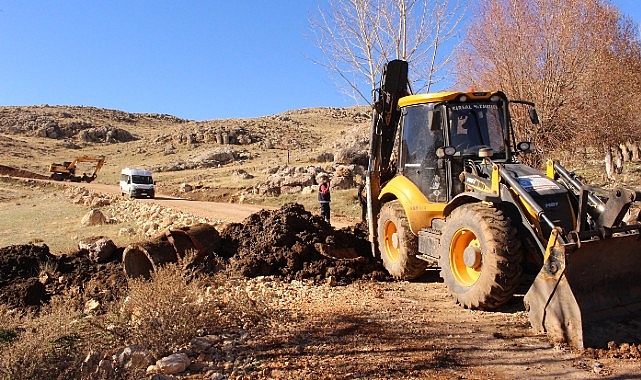
[[[445,222],[439,246],[441,277],[467,309],[496,310],[521,277],[521,241],[510,219],[482,203],[460,206]]]

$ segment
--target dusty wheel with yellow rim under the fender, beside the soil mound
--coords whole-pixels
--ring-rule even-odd
[[[377,235],[383,266],[394,278],[413,280],[425,273],[428,264],[416,257],[418,238],[410,230],[403,206],[398,201],[381,207]]]

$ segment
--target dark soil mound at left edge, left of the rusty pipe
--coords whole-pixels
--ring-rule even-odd
[[[37,310],[54,295],[71,292],[78,302],[115,300],[126,288],[120,259],[96,264],[86,253],[55,256],[46,245],[0,248],[0,302]]]

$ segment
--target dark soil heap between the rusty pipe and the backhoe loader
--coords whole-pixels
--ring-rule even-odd
[[[244,277],[278,276],[316,282],[331,278],[339,284],[387,278],[383,267],[373,260],[363,231],[335,230],[296,203],[279,210],[263,210],[243,223],[230,224],[221,231],[221,238],[220,254],[229,259],[228,270]],[[319,244],[353,248],[356,257],[327,257],[319,251]]]

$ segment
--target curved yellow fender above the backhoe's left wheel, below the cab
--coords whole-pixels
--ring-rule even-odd
[[[392,178],[381,189],[378,199],[383,200],[384,198],[398,199],[405,210],[410,230],[414,234],[418,234],[422,228],[430,227],[432,219],[442,218],[447,205],[446,203],[430,202],[412,181],[402,175]]]

